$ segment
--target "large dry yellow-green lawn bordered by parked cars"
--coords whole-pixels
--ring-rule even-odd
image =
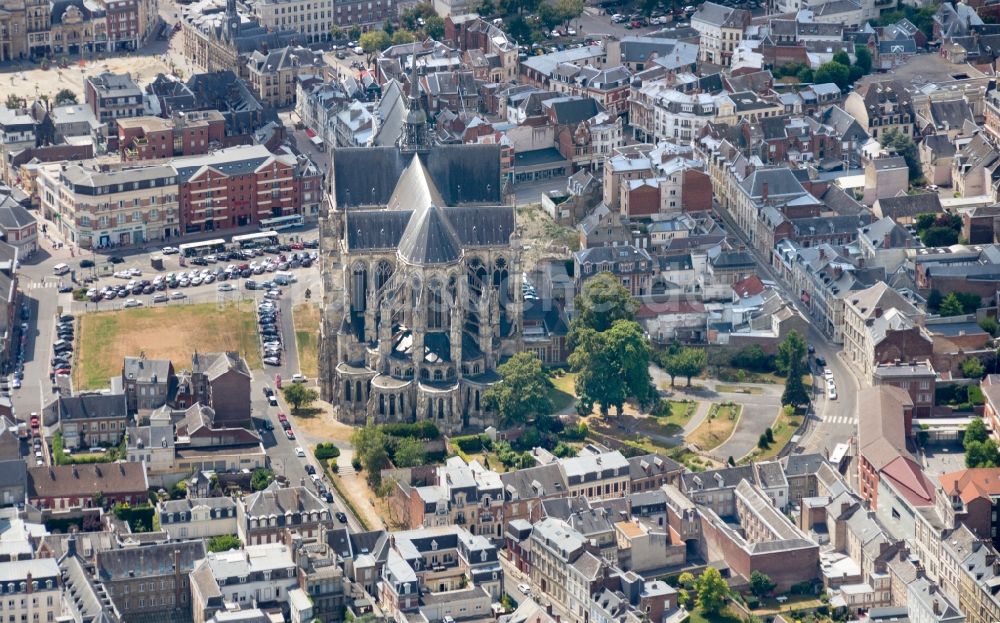
[[[80,317],[73,383],[77,390],[108,386],[121,374],[126,356],[169,359],[174,368],[191,367],[191,354],[236,351],[251,368],[260,367],[253,306],[167,305],[95,312]]]

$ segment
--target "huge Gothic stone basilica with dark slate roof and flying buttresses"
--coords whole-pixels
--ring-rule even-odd
[[[320,386],[349,424],[494,424],[523,292],[495,145],[433,145],[411,99],[397,145],[333,153],[321,219]]]

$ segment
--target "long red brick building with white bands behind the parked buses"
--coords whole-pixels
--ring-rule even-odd
[[[173,165],[184,233],[319,212],[322,175],[304,156],[274,155],[262,145],[248,145],[179,158]]]

